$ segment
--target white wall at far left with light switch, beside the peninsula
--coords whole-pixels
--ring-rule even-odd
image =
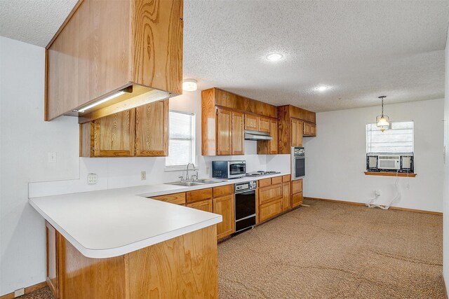
[[[0,37],[0,295],[45,278],[45,226],[29,181],[78,177],[76,118],[43,121],[44,49]],[[57,163],[47,163],[57,152]]]

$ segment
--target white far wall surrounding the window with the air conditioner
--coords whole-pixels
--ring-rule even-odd
[[[387,104],[384,111],[394,121],[415,121],[417,176],[399,178],[401,200],[393,205],[443,211],[443,99]],[[373,123],[378,114],[380,105],[316,113],[317,137],[304,139],[304,196],[366,202],[380,190],[380,204],[394,197],[395,177],[363,174],[366,123]]]

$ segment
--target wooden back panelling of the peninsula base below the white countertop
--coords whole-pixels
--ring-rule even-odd
[[[216,225],[113,258],[87,258],[55,234],[56,299],[218,298]]]

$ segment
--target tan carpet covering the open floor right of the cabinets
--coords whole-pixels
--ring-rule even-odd
[[[220,298],[443,298],[442,216],[304,203],[218,246]]]

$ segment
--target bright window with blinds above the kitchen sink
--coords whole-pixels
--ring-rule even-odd
[[[167,168],[185,167],[195,160],[195,115],[170,111]]]

